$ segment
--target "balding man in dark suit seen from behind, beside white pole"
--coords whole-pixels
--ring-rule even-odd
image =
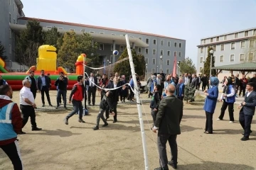
[[[153,132],[159,130],[157,135],[157,145],[159,148],[159,164],[161,167],[155,170],[169,169],[167,164],[174,169],[177,168],[178,147],[176,143],[177,135],[181,134],[181,118],[183,116],[183,102],[174,96],[175,86],[169,84],[166,89],[167,96],[160,101],[159,111],[156,115]],[[171,161],[168,162],[166,154],[166,142],[171,147]]]

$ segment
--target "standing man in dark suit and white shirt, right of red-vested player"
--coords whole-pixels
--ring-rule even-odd
[[[89,86],[88,86],[88,104],[89,106],[91,106],[91,98],[90,96],[92,96],[92,106],[95,106],[95,95],[96,95],[96,86],[95,84],[97,85],[97,77],[94,76],[93,73],[90,74],[90,77],[89,77]]]

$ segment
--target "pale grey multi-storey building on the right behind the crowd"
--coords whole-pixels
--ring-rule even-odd
[[[213,57],[215,67],[238,64],[240,62],[255,61],[256,54],[251,50],[256,46],[253,37],[256,35],[256,28],[238,30],[233,33],[225,33],[201,39],[201,45],[198,45],[197,72],[202,73],[203,63],[208,56],[208,47],[213,47]],[[239,73],[239,72],[237,72]],[[222,76],[230,76],[229,71],[220,73]]]

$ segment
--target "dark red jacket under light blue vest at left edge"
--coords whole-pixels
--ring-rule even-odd
[[[0,98],[0,108],[3,108],[4,106],[8,105],[13,101],[5,100],[3,98]],[[22,128],[22,118],[21,118],[21,112],[18,108],[18,105],[15,103],[12,110],[11,110],[11,124],[14,126],[14,131],[16,133],[21,131]],[[15,138],[9,139],[9,140],[2,140],[0,141],[0,145],[8,145],[16,140]]]

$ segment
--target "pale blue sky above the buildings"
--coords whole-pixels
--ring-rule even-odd
[[[26,16],[141,30],[186,40],[196,64],[201,38],[256,27],[256,0],[21,0]]]

